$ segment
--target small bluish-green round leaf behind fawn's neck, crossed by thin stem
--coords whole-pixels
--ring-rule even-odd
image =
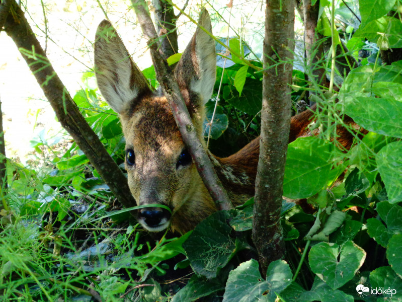
[[[203,122],[204,137],[208,137],[210,129],[210,121],[212,119],[213,111],[215,108],[215,102],[209,101],[205,105],[205,120]],[[229,122],[227,115],[223,112],[221,106],[216,106],[215,115],[213,117],[212,128],[210,137],[213,139],[219,138],[222,133],[227,129]]]

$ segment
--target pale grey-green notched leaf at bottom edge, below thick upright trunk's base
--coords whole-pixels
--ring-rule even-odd
[[[283,260],[271,262],[265,281],[254,259],[240,264],[229,273],[223,302],[272,301],[292,282],[292,272]]]

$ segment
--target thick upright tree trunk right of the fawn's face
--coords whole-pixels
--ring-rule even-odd
[[[280,212],[289,137],[294,49],[294,0],[267,0],[260,158],[254,199],[253,241],[262,273],[284,255]],[[270,68],[270,65],[275,67]]]

